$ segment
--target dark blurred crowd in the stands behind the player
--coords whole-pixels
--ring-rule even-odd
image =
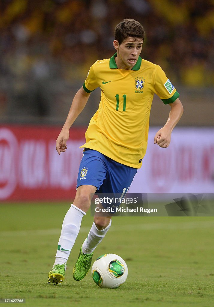
[[[124,18],[142,23],[141,56],[173,83],[214,85],[213,0],[1,0],[0,115],[8,95],[49,115],[46,96],[81,84],[95,60],[111,57]]]

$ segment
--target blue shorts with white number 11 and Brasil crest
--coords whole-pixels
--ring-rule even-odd
[[[125,194],[137,170],[116,162],[99,151],[85,148],[76,188],[80,185],[93,185],[99,193]]]

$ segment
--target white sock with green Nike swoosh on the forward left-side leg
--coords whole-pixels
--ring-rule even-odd
[[[64,262],[68,260],[85,214],[84,211],[72,204],[64,217],[58,250],[56,252],[56,257],[65,259]]]

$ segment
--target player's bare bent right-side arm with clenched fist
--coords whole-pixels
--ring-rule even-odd
[[[167,122],[163,128],[158,130],[154,137],[154,144],[158,144],[163,148],[169,146],[172,130],[177,125],[183,114],[183,106],[179,98],[177,98],[173,103],[169,103],[169,106],[171,107],[171,110]]]

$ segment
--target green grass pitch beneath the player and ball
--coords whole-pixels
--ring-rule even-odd
[[[120,288],[100,289],[90,271],[80,282],[72,278],[73,265],[93,220],[88,212],[63,284],[48,285],[47,273],[68,208],[68,203],[0,205],[0,298],[25,298],[24,306],[31,307],[214,305],[213,217],[113,218],[94,260],[104,253],[118,254],[126,261],[129,274]]]

